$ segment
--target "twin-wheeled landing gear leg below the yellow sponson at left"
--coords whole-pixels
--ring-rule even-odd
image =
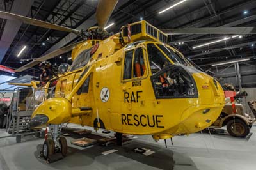
[[[62,125],[49,125],[49,128],[41,155],[47,162],[53,162],[66,157],[68,146],[65,137],[60,136]]]

